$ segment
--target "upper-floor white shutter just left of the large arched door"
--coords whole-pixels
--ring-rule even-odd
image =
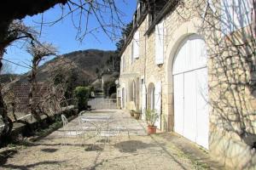
[[[155,64],[164,63],[164,21],[155,26]]]

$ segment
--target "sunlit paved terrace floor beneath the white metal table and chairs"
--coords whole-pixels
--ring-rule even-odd
[[[92,111],[89,116],[111,116],[109,129],[118,136],[110,142],[93,138],[95,129],[84,127],[85,139],[79,129],[79,118],[69,122],[44,139],[10,153],[0,161],[1,169],[204,169],[191,161],[165,136],[148,136],[142,121],[119,110]],[[102,127],[105,126],[102,124]],[[115,130],[114,130],[115,129]],[[118,130],[117,130],[118,129]],[[63,134],[66,137],[63,138]],[[0,167],[1,167],[0,166]]]

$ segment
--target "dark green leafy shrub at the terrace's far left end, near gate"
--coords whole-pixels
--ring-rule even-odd
[[[79,86],[74,89],[76,106],[79,109],[79,111],[84,111],[87,109],[87,102],[88,102],[89,96],[90,96],[90,88]]]

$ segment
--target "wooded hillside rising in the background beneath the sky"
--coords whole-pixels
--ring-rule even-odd
[[[51,59],[38,68],[38,82],[47,82],[50,78],[76,76],[78,84],[95,82],[102,73],[113,74],[118,72],[117,54],[114,51],[88,49],[63,54],[61,57]],[[27,74],[21,75],[15,82],[27,82]],[[4,77],[4,78],[3,78]],[[7,76],[1,76],[1,82],[7,82]],[[3,81],[4,80],[4,81]]]

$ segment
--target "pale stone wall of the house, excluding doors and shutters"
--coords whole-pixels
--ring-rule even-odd
[[[123,89],[122,108],[131,110],[131,103],[134,103],[135,109],[143,112],[143,86],[148,92],[150,83],[161,82],[160,129],[174,131],[173,61],[181,42],[186,37],[197,35],[207,44],[209,152],[227,167],[254,169],[255,39],[251,37],[250,26],[222,36],[221,23],[217,20],[221,15],[219,4],[213,10],[206,8],[204,2],[189,0],[177,3],[166,13],[160,13],[162,17],[157,17],[164,22],[164,62],[161,65],[155,64],[155,30],[148,31],[149,14],[135,28],[140,35],[139,58],[131,58],[132,38],[127,39],[121,53],[119,94]],[[133,92],[133,83],[136,93]]]

